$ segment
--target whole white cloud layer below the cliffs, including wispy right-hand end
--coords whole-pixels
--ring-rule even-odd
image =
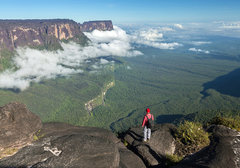
[[[180,24],[157,28],[137,29],[127,34],[121,28],[114,26],[112,31],[94,30],[85,35],[91,40],[86,47],[76,43],[62,43],[63,50],[39,51],[30,48],[18,48],[13,59],[17,70],[6,70],[0,74],[0,88],[27,89],[32,82],[53,79],[57,76],[68,76],[81,73],[81,66],[91,58],[100,56],[131,57],[141,55],[132,47],[132,43],[151,46],[159,49],[175,49],[182,44],[164,39],[167,32],[183,29]],[[198,50],[198,52],[202,52]],[[100,64],[109,62],[100,59]],[[97,68],[96,68],[97,69]]]

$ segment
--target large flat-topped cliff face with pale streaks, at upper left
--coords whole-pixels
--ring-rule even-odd
[[[61,40],[84,44],[87,37],[72,20],[0,20],[0,49],[22,46],[54,49]]]

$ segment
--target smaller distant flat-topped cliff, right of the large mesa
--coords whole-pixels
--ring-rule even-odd
[[[82,32],[91,32],[95,29],[102,31],[111,31],[113,30],[113,24],[111,20],[90,21],[80,24],[80,29]]]

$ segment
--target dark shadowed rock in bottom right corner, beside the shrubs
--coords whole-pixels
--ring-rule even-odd
[[[211,143],[186,157],[174,168],[239,168],[240,133],[225,126],[211,126]]]

